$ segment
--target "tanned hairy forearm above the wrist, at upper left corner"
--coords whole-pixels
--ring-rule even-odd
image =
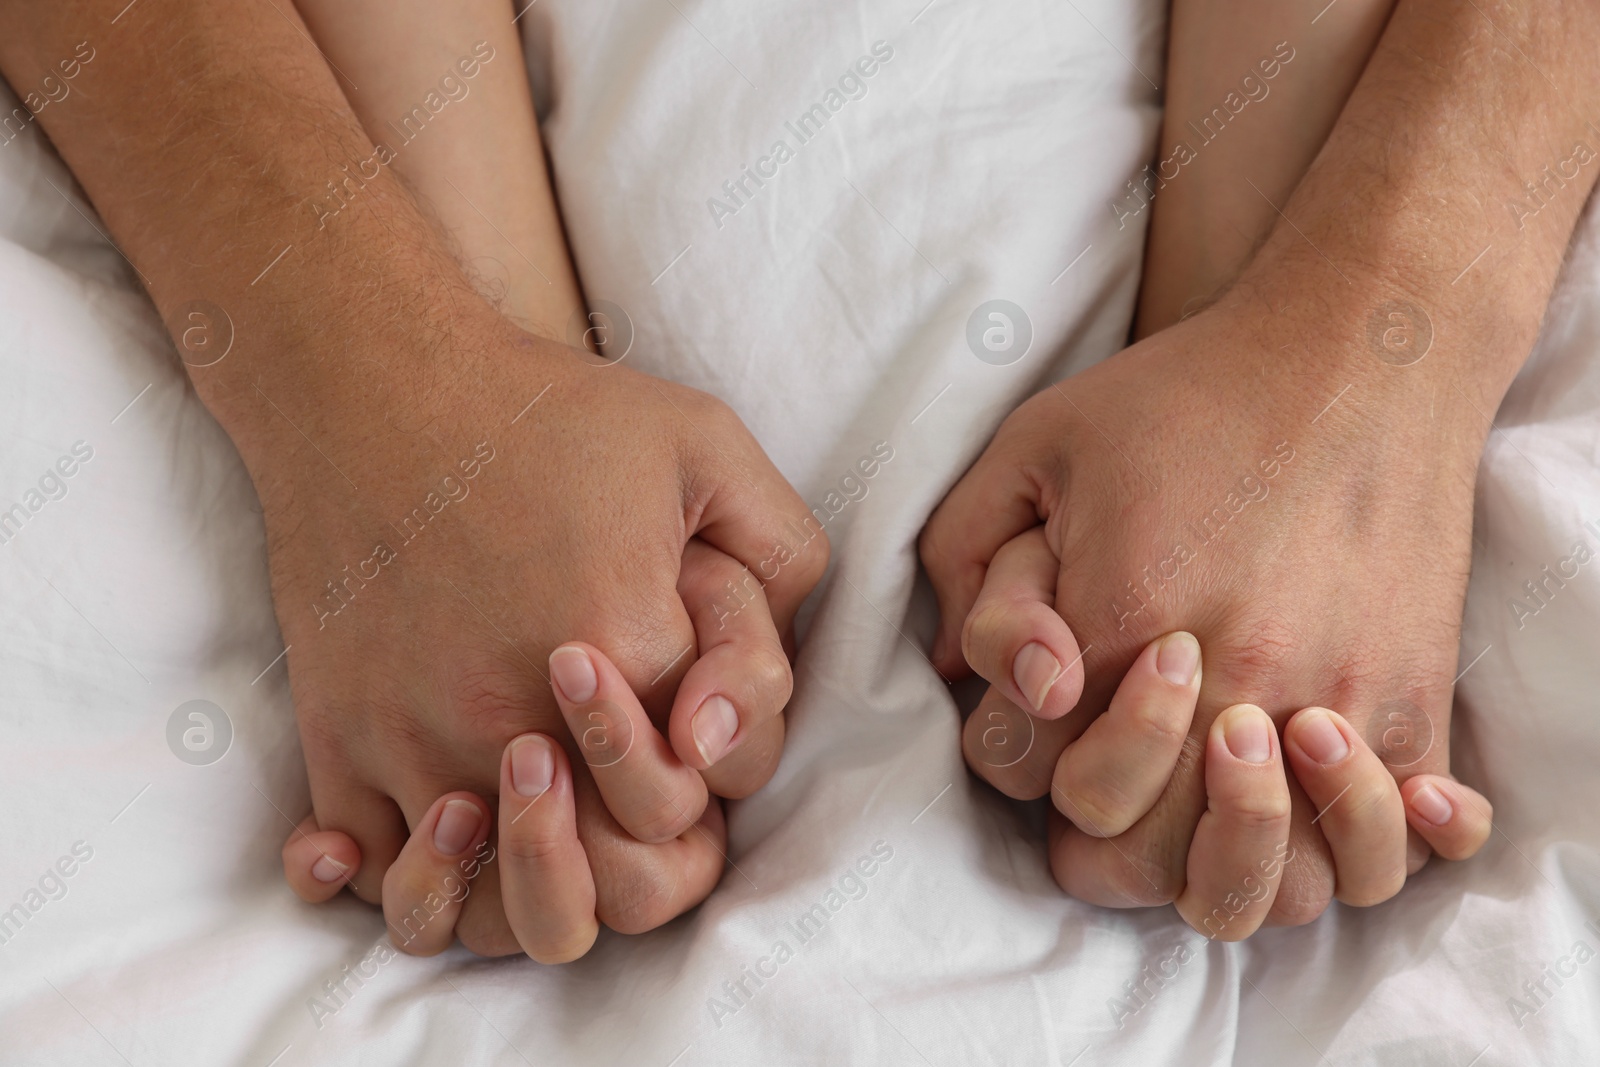
[[[118,6],[5,5],[0,67],[27,86],[94,45],[78,91],[38,122],[179,350],[197,306],[213,338],[232,334],[227,357],[190,376],[259,475],[261,456],[322,440],[371,392],[363,360],[414,381],[411,363],[467,334],[482,301],[400,182],[366,163],[373,144],[291,5]],[[350,202],[333,219],[315,210],[330,189]]]

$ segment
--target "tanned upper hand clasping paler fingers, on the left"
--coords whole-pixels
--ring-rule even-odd
[[[307,437],[285,426],[253,467],[317,824],[355,838],[371,901],[408,827],[451,790],[494,797],[501,752],[530,729],[574,739],[581,837],[611,817],[643,843],[685,835],[712,763],[717,792],[763,784],[790,688],[779,633],[827,558],[720,402],[498,317],[466,342],[470,325],[454,323],[448,363],[406,373],[397,357],[274,398]],[[770,581],[733,614],[746,566]],[[568,638],[616,667],[573,646],[552,659]],[[622,713],[619,686],[662,729]],[[714,881],[602,880],[598,915],[645,928],[642,910],[662,921]],[[504,947],[475,936],[490,899],[467,902],[469,947]]]

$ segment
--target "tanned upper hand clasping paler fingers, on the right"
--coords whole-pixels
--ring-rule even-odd
[[[1203,875],[1221,902],[1229,878],[1211,854],[1190,854],[1206,776],[1219,773],[1203,758],[1214,720],[1235,704],[1280,726],[1301,709],[1342,709],[1352,739],[1301,715],[1283,745],[1291,763],[1314,750],[1344,766],[1354,752],[1336,787],[1318,760],[1294,768],[1288,792],[1282,768],[1275,789],[1238,787],[1269,822],[1293,797],[1293,832],[1277,841],[1294,862],[1280,864],[1272,918],[1306,921],[1334,893],[1371,904],[1405,880],[1400,795],[1378,757],[1398,781],[1448,773],[1482,437],[1443,419],[1373,426],[1360,397],[1328,408],[1339,386],[1280,358],[1310,323],[1243,307],[1194,317],[1022,405],[930,522],[923,558],[946,617],[939,669],[971,662],[995,683],[966,729],[968,763],[1008,795],[1051,793],[1069,821],[1053,845],[1058,877],[1083,899],[1165,904]],[[1042,528],[1013,539],[1038,515]],[[1019,600],[1046,609],[1018,611]],[[960,646],[952,621],[965,621]],[[1112,689],[1171,630],[1205,649],[1194,721],[1146,713],[1115,744],[1096,741]],[[1278,758],[1262,745],[1262,763]],[[1454,854],[1488,830],[1478,811],[1462,825],[1475,840],[1451,838]],[[1258,851],[1221,864],[1238,881],[1274,841]],[[1424,856],[1413,851],[1411,869]]]

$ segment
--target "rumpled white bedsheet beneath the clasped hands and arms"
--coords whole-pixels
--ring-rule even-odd
[[[579,267],[630,314],[629,358],[733,403],[813,502],[877,442],[894,458],[834,526],[789,747],[734,808],[710,901],[558,969],[400,957],[333,1014],[312,998],[384,929],[278,875],[309,801],[250,482],[59,160],[37,133],[0,147],[0,510],[93,450],[0,545],[0,910],[37,905],[0,945],[0,1062],[1600,1059],[1600,563],[1520,629],[1507,603],[1600,547],[1592,221],[1480,475],[1454,752],[1498,806],[1490,846],[1238,947],[1088,907],[1050,880],[1037,821],[960,763],[914,542],[1013,405],[1125,334],[1142,216],[1118,229],[1110,203],[1154,146],[1165,5],[920,5],[525,18]],[[800,144],[786,123],[875,42],[893,54],[864,96]],[[792,158],[762,165],[778,139]],[[776,176],[733,203],[723,182],[758,165]],[[1032,320],[1016,365],[965,342],[989,299]],[[235,729],[210,766],[166,745],[190,699]],[[819,902],[838,907],[802,941]],[[744,977],[779,941],[776,974]],[[1114,1009],[1181,947],[1149,1003]],[[1546,966],[1576,973],[1534,1000]]]

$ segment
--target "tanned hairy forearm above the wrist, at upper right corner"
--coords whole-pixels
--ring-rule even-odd
[[[1299,323],[1282,358],[1374,422],[1486,435],[1600,173],[1597,48],[1589,3],[1400,0],[1229,299]]]

